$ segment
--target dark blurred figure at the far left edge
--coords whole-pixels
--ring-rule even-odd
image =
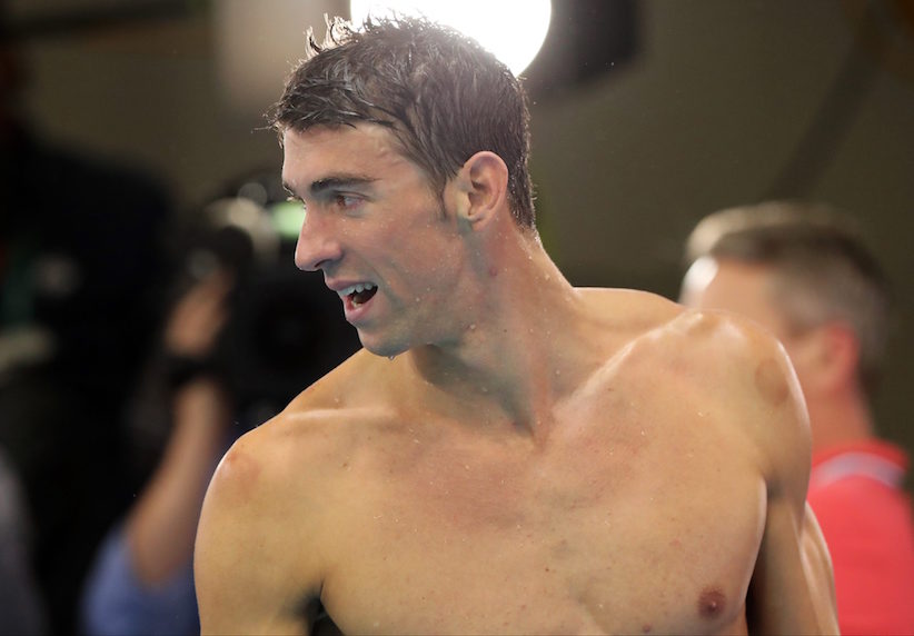
[[[48,628],[66,634],[136,489],[123,411],[158,320],[170,205],[143,172],[30,125],[20,37],[0,14],[0,447],[31,517]]]

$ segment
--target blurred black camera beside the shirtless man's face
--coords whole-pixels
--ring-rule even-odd
[[[229,317],[209,364],[236,399],[239,418],[259,423],[360,344],[322,277],[295,267],[304,208],[271,201],[266,188],[251,183],[260,185],[248,181],[239,196],[202,210],[182,270],[190,281],[216,269],[234,274]]]

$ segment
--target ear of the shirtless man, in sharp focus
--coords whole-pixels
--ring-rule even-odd
[[[467,229],[481,229],[508,209],[508,167],[495,152],[467,159],[448,187],[457,220]]]

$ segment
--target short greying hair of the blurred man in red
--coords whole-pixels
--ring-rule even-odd
[[[705,217],[686,245],[689,264],[711,256],[768,267],[773,300],[792,329],[841,320],[860,342],[858,374],[877,388],[892,316],[892,289],[860,228],[824,203],[769,201]]]

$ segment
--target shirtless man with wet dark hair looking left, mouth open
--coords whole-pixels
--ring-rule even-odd
[[[572,287],[534,226],[523,91],[475,43],[330,32],[274,120],[296,264],[365,349],[221,461],[203,633],[307,634],[321,606],[358,634],[834,632],[775,340]]]

